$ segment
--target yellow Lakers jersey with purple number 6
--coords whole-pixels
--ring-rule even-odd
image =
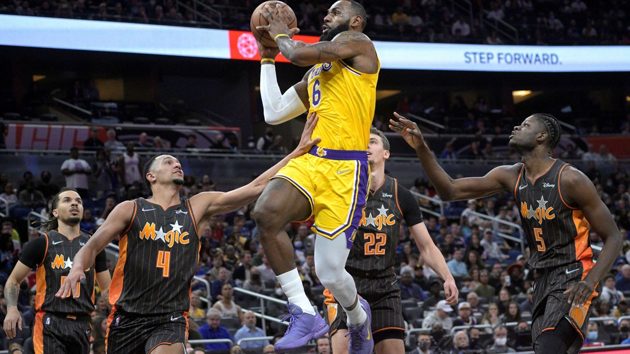
[[[379,70],[375,74],[365,74],[338,60],[318,64],[311,71],[308,80],[309,113],[316,112],[319,116],[312,136],[321,138],[320,147],[367,149]]]

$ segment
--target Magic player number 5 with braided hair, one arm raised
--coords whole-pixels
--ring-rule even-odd
[[[621,250],[621,234],[610,211],[586,175],[551,157],[560,126],[549,114],[536,113],[515,126],[510,148],[522,163],[500,166],[484,177],[452,179],[438,165],[418,126],[394,113],[390,128],[415,148],[425,173],[444,201],[514,194],[536,269],[532,340],[536,353],[577,353],[585,338],[591,304],[600,280]],[[589,229],[604,240],[597,263]]]

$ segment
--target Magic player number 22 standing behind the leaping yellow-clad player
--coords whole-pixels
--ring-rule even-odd
[[[444,279],[447,304],[457,304],[459,291],[442,252],[433,243],[422,221],[418,199],[398,185],[396,179],[385,175],[389,141],[376,128],[370,129],[367,158],[370,163],[370,192],[346,270],[354,277],[358,293],[370,303],[376,354],[404,354],[404,319],[400,288],[394,273],[401,220],[404,219],[407,224],[429,267]],[[337,311],[338,304],[328,290],[324,291],[324,295],[333,353],[347,353],[348,339],[345,335],[348,329],[343,313]]]

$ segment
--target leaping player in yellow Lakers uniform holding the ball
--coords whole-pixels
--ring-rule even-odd
[[[278,48],[260,45],[260,87],[265,121],[279,124],[308,110],[320,118],[314,134],[318,147],[287,163],[273,176],[260,201],[255,220],[265,254],[287,295],[290,321],[284,338],[275,344],[279,353],[299,350],[309,340],[326,334],[326,321],[309,303],[295,268],[291,241],[284,231],[290,221],[315,215],[315,268],[319,280],[348,316],[350,353],[372,353],[370,309],[359,299],[352,276],[345,270],[365,206],[369,165],[365,148],[374,116],[379,59],[372,41],[362,33],[365,9],[355,1],[337,1],[324,18],[319,43],[291,39],[277,8],[263,8],[268,31]],[[273,58],[279,52],[293,64],[310,70],[284,94],[280,93]]]

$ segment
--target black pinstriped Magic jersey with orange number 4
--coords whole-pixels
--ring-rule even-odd
[[[126,313],[187,312],[200,248],[190,201],[166,209],[144,198],[134,204],[129,229],[120,236],[110,303]]]

